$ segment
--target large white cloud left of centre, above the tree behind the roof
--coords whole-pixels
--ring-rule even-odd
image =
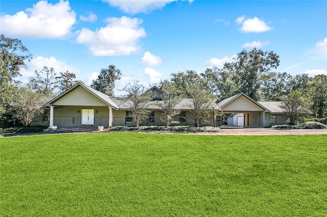
[[[108,18],[108,24],[96,31],[82,29],[77,42],[87,45],[94,56],[131,55],[141,49],[140,38],[147,33],[139,25],[142,19],[123,16]]]

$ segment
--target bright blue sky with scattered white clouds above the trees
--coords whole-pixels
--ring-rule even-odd
[[[33,60],[87,85],[102,68],[122,72],[121,89],[158,83],[177,71],[222,67],[257,47],[274,51],[276,71],[327,74],[327,1],[1,1],[1,34]],[[116,92],[117,93],[117,92]]]

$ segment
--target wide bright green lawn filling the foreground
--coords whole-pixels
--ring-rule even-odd
[[[327,135],[0,138],[3,216],[326,216]]]

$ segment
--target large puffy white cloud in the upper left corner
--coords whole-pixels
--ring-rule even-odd
[[[58,38],[71,32],[76,13],[69,2],[57,4],[39,1],[33,8],[0,17],[1,32],[11,37]]]

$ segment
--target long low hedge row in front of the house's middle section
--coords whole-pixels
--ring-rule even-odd
[[[164,131],[164,132],[221,132],[218,127],[195,127],[195,126],[115,126],[111,127],[110,131]]]

